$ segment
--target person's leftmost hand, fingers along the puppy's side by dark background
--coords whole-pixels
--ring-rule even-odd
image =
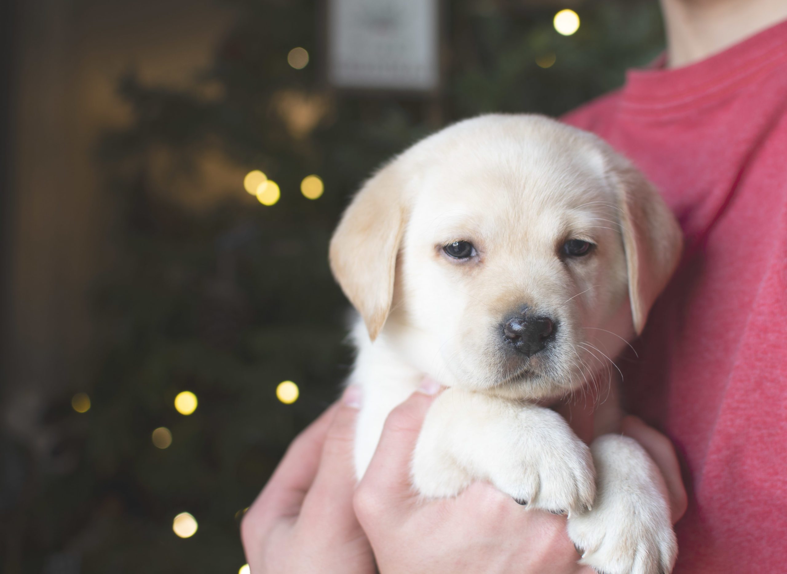
[[[241,524],[246,560],[265,572],[375,572],[353,513],[357,387],[298,435]]]

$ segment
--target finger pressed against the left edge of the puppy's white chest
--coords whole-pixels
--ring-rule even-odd
[[[356,487],[353,451],[355,424],[360,408],[360,387],[348,387],[342,395],[323,443],[320,468],[312,487],[306,494],[301,516],[311,520],[318,514],[328,517],[332,528],[348,531],[357,527],[353,512],[353,494]],[[325,524],[325,520],[312,520]]]

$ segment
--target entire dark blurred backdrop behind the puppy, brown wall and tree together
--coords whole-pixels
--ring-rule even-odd
[[[327,241],[360,181],[453,120],[564,113],[663,46],[656,2],[442,4],[442,88],[405,95],[327,85],[314,0],[0,3],[2,572],[237,572],[242,509],[349,370]]]

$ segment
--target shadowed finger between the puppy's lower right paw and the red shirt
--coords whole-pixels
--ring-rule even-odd
[[[641,444],[661,470],[670,494],[672,522],[678,522],[686,511],[688,497],[683,486],[678,455],[675,454],[671,440],[655,428],[649,427],[641,418],[631,415],[623,418],[621,429],[624,435]]]

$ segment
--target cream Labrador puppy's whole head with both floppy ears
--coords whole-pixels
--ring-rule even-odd
[[[681,250],[628,161],[538,116],[485,116],[412,146],[361,189],[331,268],[368,329],[452,386],[555,396],[608,368]]]

